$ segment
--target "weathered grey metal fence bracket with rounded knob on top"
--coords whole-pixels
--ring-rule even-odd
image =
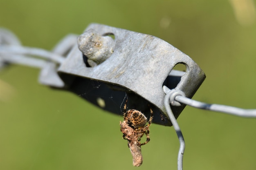
[[[179,63],[186,72],[173,70]],[[58,74],[67,90],[85,94],[81,97],[119,115],[126,96],[128,108],[141,110],[147,117],[149,104],[154,123],[165,126],[171,126],[171,121],[166,116],[163,85],[191,98],[205,79],[188,55],[164,40],[102,24],[90,24],[80,35]],[[185,106],[171,106],[176,118]]]

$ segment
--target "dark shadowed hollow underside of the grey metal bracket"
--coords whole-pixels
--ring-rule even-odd
[[[150,118],[150,108],[152,108],[153,123],[170,125],[170,121],[156,106],[127,88],[94,79],[75,77],[69,91],[103,110],[121,116],[124,114],[124,104],[127,105],[128,110],[139,110],[148,119]]]

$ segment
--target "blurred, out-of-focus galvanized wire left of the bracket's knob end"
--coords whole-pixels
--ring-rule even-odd
[[[21,46],[20,41],[7,29],[0,29],[0,67],[2,62],[43,68],[47,61],[61,64],[65,53],[77,43],[77,35],[67,35],[52,51]]]

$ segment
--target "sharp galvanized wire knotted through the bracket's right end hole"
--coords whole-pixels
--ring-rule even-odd
[[[195,108],[222,112],[222,113],[227,113],[230,115],[236,115],[240,117],[256,117],[256,109],[242,109],[242,108],[225,106],[220,104],[207,104],[204,102],[198,102],[198,101],[187,98],[182,91],[176,90],[176,89],[171,90],[166,86],[163,86],[163,91],[166,94],[164,97],[164,106],[166,108],[167,115],[170,118],[171,123],[173,124],[173,128],[175,129],[180,141],[180,150],[178,152],[178,160],[177,160],[178,170],[182,170],[185,141],[184,141],[182,132],[180,130],[180,126],[178,125],[177,120],[173,115],[170,104],[173,106],[179,106],[178,103],[183,103]]]

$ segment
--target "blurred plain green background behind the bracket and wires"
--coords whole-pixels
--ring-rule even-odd
[[[206,73],[193,99],[256,108],[256,1],[0,0],[0,26],[25,46],[51,50],[69,33],[98,22],[159,37]],[[1,170],[177,169],[173,127],[150,126],[144,162],[132,156],[121,116],[81,97],[38,84],[39,70],[0,72]],[[178,122],[186,140],[184,170],[255,170],[256,119],[186,106]]]

